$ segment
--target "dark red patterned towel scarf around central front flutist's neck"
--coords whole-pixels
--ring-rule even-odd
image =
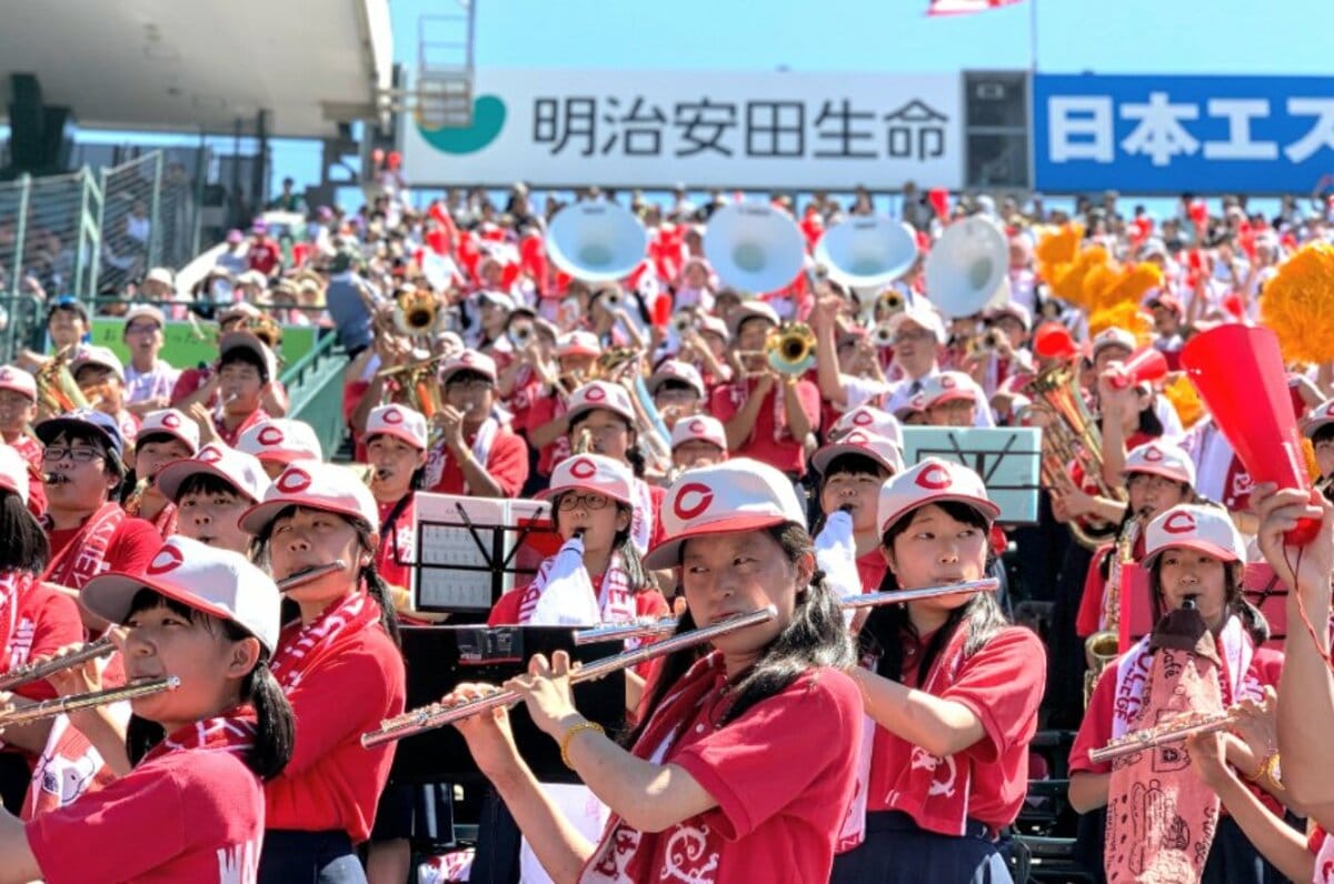
[[[663,697],[652,717],[648,719],[644,732],[635,743],[634,755],[655,764],[666,761],[682,728],[695,719],[698,709],[704,703],[718,696],[724,684],[723,655],[715,651],[707,657],[696,660],[695,665],[682,676],[676,687]],[[690,849],[680,855],[674,853],[672,859],[680,863],[699,863],[699,865],[690,869],[672,869],[672,876],[692,884],[714,881],[718,871],[718,851],[723,839],[716,832],[702,832],[696,827],[687,825],[688,823],[690,820],[684,820],[663,832],[644,833],[612,815],[607,820],[602,841],[594,848],[579,880],[584,884],[634,884],[634,881],[656,880],[659,877],[658,869],[650,868],[648,864],[654,861],[658,840],[675,841],[680,840],[679,836],[684,833]],[[667,875],[662,877],[667,877]]]

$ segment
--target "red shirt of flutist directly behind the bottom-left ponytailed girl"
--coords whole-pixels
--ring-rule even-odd
[[[295,625],[279,647],[292,640]],[[296,716],[292,760],[264,785],[268,828],[342,829],[354,844],[370,837],[394,744],[363,749],[360,736],[403,712],[406,681],[403,657],[379,625],[303,675],[287,695]]]

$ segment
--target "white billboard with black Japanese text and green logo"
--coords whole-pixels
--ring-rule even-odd
[[[958,188],[958,75],[482,71],[472,127],[403,115],[415,187]]]

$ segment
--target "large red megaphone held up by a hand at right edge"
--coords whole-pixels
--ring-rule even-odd
[[[1251,480],[1310,489],[1273,329],[1219,325],[1191,337],[1182,348],[1181,364]],[[1283,540],[1303,547],[1319,527],[1319,520],[1303,519]]]

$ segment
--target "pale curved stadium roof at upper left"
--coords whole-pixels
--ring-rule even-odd
[[[390,85],[388,0],[0,0],[0,92],[35,73],[80,127],[334,135]]]

